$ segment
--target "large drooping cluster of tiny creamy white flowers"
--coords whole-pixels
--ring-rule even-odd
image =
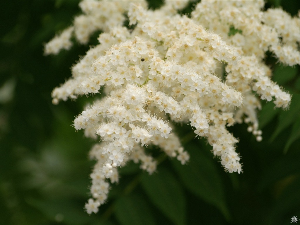
[[[289,107],[291,95],[271,80],[263,59],[270,51],[283,64],[300,64],[299,15],[263,10],[263,0],[202,0],[190,17],[180,15],[187,4],[166,0],[148,10],[146,1],[84,0],[73,26],[45,45],[45,54],[57,54],[71,47],[71,37],[86,44],[102,31],[99,44],[72,67],[72,77],[52,92],[54,104],[96,97],[74,120],[76,130],[101,140],[90,151],[97,163],[85,205],[89,214],[106,201],[110,182],[119,181],[118,167],[134,161],[155,172],[148,145],[181,164],[189,161],[172,124],[192,126],[226,171],[241,173],[238,140],[227,127],[245,122],[261,141],[259,98]]]

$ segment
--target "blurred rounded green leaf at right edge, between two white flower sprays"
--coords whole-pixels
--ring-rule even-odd
[[[276,65],[274,68],[273,78],[279,85],[284,85],[291,81],[297,75],[298,67],[289,67],[283,65]]]

